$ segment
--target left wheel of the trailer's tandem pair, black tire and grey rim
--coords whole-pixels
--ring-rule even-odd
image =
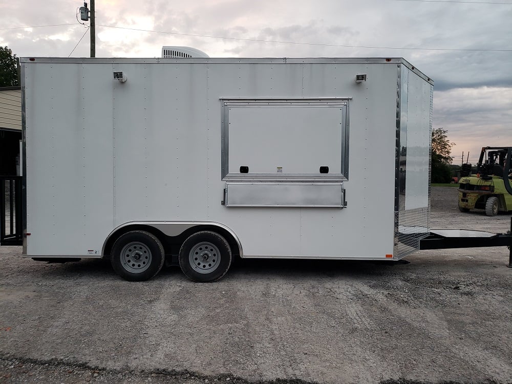
[[[154,234],[131,231],[122,234],[112,247],[112,267],[124,280],[146,281],[162,269],[165,253]]]

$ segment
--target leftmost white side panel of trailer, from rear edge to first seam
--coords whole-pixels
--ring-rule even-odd
[[[111,72],[108,64],[25,66],[27,254],[100,252],[112,230]]]

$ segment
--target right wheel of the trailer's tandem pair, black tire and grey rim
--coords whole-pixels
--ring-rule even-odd
[[[180,249],[183,273],[190,280],[205,283],[219,280],[231,265],[231,248],[220,234],[201,231],[191,234]]]

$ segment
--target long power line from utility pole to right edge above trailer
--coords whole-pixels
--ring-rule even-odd
[[[103,25],[103,24],[96,24],[96,25],[100,26],[100,27],[106,27],[106,28],[117,28],[117,29],[125,29],[125,30],[130,30],[130,31],[139,31],[139,32],[165,33],[165,34],[169,34],[169,35],[179,35],[179,36],[207,37],[207,38],[216,38],[216,39],[225,39],[225,40],[274,42],[274,43],[280,43],[280,44],[295,44],[295,45],[322,46],[322,47],[369,48],[369,49],[405,49],[405,50],[420,50],[420,51],[512,52],[512,49],[447,49],[447,48],[403,48],[403,47],[349,46],[349,45],[339,45],[339,44],[321,44],[321,43],[316,43],[316,42],[297,42],[297,41],[247,39],[247,38],[241,38],[241,37],[225,37],[225,36],[213,36],[213,35],[198,35],[198,34],[192,34],[192,33],[152,31],[152,30],[148,30],[148,29],[116,27],[116,26]]]

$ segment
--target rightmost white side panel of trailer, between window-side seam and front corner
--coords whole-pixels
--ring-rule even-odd
[[[367,81],[355,83],[356,73],[366,73]],[[330,216],[321,210],[303,210],[306,254],[355,258],[392,254],[393,209],[387,202],[394,196],[390,184],[395,161],[396,74],[397,65],[386,64],[304,66],[305,95],[329,92],[352,97],[349,177],[344,182],[348,206]],[[313,238],[318,244],[313,244]]]

